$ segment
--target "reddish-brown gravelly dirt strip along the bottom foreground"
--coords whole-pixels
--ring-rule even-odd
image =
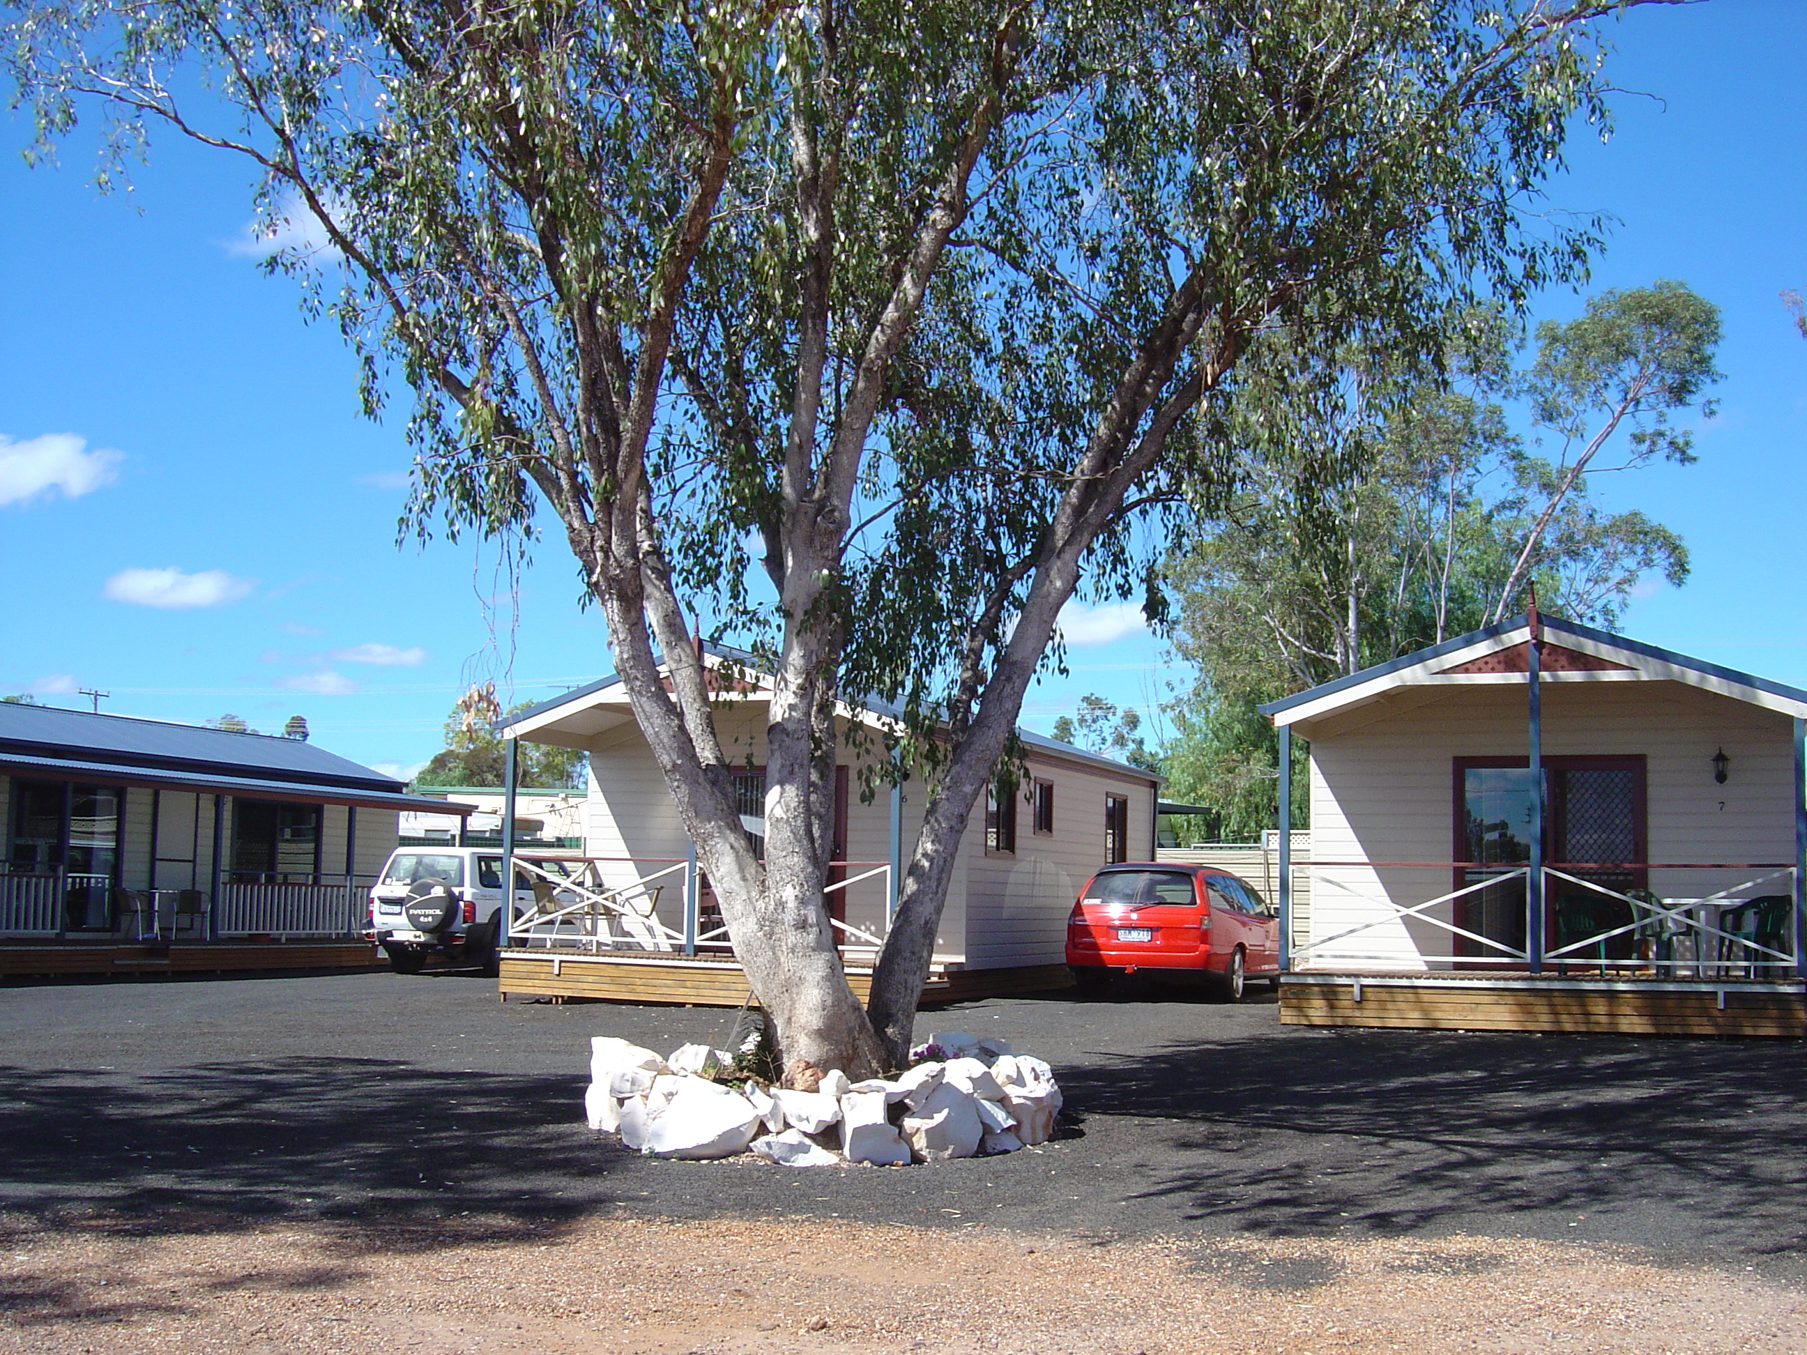
[[[777,1171],[777,1169],[773,1169]],[[0,1218],[0,1351],[1794,1351],[1755,1274],[1563,1243]]]

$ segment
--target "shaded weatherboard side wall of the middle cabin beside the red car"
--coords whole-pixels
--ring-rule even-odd
[[[1030,775],[1053,782],[1053,833],[1035,833],[1035,813],[1017,800],[1014,855],[985,851],[985,808],[972,811],[967,855],[967,963],[972,968],[1061,965],[1066,918],[1091,873],[1104,865],[1104,797],[1129,800],[1129,860],[1149,858],[1155,788],[1133,771],[1111,775],[1030,753]]]

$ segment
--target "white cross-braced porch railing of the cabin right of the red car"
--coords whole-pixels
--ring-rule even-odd
[[[1301,865],[1305,865],[1301,862]],[[1399,967],[1417,959],[1426,965],[1478,965],[1494,968],[1529,968],[1570,974],[1590,972],[1671,979],[1733,979],[1733,977],[1794,977],[1798,974],[1794,925],[1794,867],[1787,865],[1726,865],[1726,864],[1653,864],[1601,865],[1621,878],[1630,871],[1715,871],[1760,869],[1764,874],[1740,880],[1704,896],[1671,896],[1637,889],[1610,889],[1570,871],[1543,867],[1543,916],[1554,939],[1532,948],[1509,945],[1455,923],[1455,903],[1469,894],[1509,885],[1529,883],[1531,867],[1489,874],[1462,889],[1453,889],[1422,903],[1399,903],[1379,880],[1348,882],[1337,878],[1334,867],[1379,869],[1460,869],[1458,862],[1315,862],[1317,921],[1330,932],[1303,941],[1292,948],[1296,968],[1334,967]],[[1762,892],[1764,887],[1769,892]],[[1576,894],[1574,891],[1587,891]],[[1353,925],[1335,925],[1341,909],[1330,891],[1352,896],[1370,916]],[[1558,894],[1561,891],[1561,894]],[[1601,900],[1596,909],[1583,902]],[[1435,909],[1447,905],[1449,916]],[[1520,905],[1523,907],[1523,905]],[[1375,948],[1375,932],[1400,929],[1408,923],[1431,927],[1449,934],[1449,948],[1428,950],[1417,941],[1402,950],[1397,938],[1388,948]],[[1355,941],[1353,938],[1366,938]],[[1478,954],[1456,954],[1455,938],[1480,948]]]

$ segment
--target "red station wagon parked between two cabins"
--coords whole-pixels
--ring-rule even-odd
[[[1229,871],[1214,865],[1106,865],[1066,920],[1066,963],[1081,990],[1113,974],[1200,974],[1240,1003],[1249,976],[1279,983],[1279,920]]]

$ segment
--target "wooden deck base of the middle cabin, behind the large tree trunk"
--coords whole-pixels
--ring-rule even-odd
[[[578,954],[558,950],[504,950],[501,994],[589,999],[605,1003],[683,1003],[685,1006],[743,1006],[750,997],[746,974],[732,959],[679,954]],[[1066,965],[1023,968],[929,970],[923,1003],[965,1003],[1014,992],[1066,988],[1073,981]],[[849,965],[847,983],[864,1003],[873,970]]]

